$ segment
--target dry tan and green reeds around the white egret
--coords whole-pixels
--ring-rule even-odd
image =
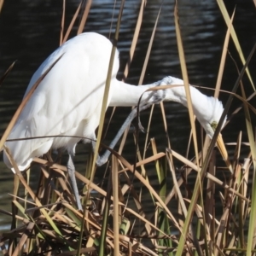
[[[77,179],[84,183],[84,189],[80,191],[83,212],[76,209],[72,189],[68,183],[67,168],[54,163],[51,154],[45,155],[43,159],[35,159],[34,162],[38,163],[41,170],[38,172],[40,177],[38,177],[36,192],[29,186],[29,172],[26,173],[26,178],[20,172],[15,175],[12,212],[4,212],[12,216],[12,226],[8,232],[0,236],[3,255],[252,255],[256,253],[254,239],[256,153],[253,125],[250,121],[251,113],[255,113],[255,108],[248,103],[249,99],[245,95],[241,82],[242,76],[246,73],[253,86],[247,65],[254,54],[255,47],[245,59],[235,28],[232,26],[234,14],[230,18],[224,3],[221,0],[217,2],[227,23],[227,33],[215,96],[218,96],[220,91],[229,40],[232,39],[235,42],[244,66],[237,72],[238,79],[230,92],[223,118],[216,132],[220,131],[221,122],[229,111],[232,98],[236,96],[241,100],[241,108],[237,111],[243,109],[247,120],[248,142],[241,141],[240,132],[236,142],[229,144],[229,147],[234,148],[232,155],[223,156],[225,159],[221,159],[215,147],[218,134],[212,138],[211,142],[201,134],[203,143],[198,143],[191,106],[189,106],[191,140],[185,147],[188,148],[188,152],[195,152],[194,158],[178,154],[172,149],[172,137],[168,137],[166,129],[168,147],[162,152],[158,150],[154,138],[147,138],[144,147],[138,145],[137,133],[135,133],[137,152],[134,154],[137,160],[129,162],[121,154],[125,147],[125,133],[119,151],[113,151],[108,161],[106,176],[103,177],[105,183],[95,182],[95,155],[88,156],[84,175],[76,172]],[[131,58],[137,44],[144,6],[145,3],[142,1],[131,45]],[[116,39],[118,39],[122,8],[121,4]],[[78,32],[83,31],[89,10],[90,1],[85,5],[83,1],[79,4],[67,32],[64,33],[64,30],[61,30],[61,44],[67,40],[78,17],[80,17]],[[186,85],[186,81],[189,80],[183,55],[177,6],[174,14],[178,51]],[[62,28],[64,20],[65,1],[63,1]],[[139,84],[143,81],[155,27],[148,44],[148,55]],[[0,79],[1,83],[11,68]],[[129,64],[125,68],[125,77],[128,73]],[[35,84],[34,89],[38,84]],[[109,81],[107,90],[108,85]],[[240,96],[236,94],[238,87],[241,88]],[[107,97],[108,93],[104,102],[107,102]],[[3,134],[1,148],[28,98],[21,103],[14,119]],[[166,128],[162,103],[160,108],[163,125]],[[237,111],[232,113],[230,118]],[[154,106],[151,111],[151,115],[153,114]],[[149,118],[147,130],[150,130],[153,125],[150,120],[151,118]],[[102,112],[96,150],[101,146],[103,123],[104,113]],[[246,157],[241,156],[243,147],[249,148]],[[147,154],[145,154],[146,151]],[[150,155],[148,152],[151,152]],[[152,170],[157,175],[156,181],[150,180],[147,175]],[[253,180],[253,185],[249,186],[250,180]],[[149,195],[150,201],[144,200],[145,194]]]

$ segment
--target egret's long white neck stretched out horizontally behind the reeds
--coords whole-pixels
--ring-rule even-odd
[[[148,103],[153,102],[154,97],[148,97],[152,91],[145,91],[158,85],[173,85],[172,88],[166,89],[164,93],[162,90],[159,91],[157,96],[160,100],[164,102],[178,102],[183,104],[183,106],[188,107],[188,100],[183,86],[183,80],[173,77],[166,77],[154,84],[139,86],[125,84],[114,79],[113,84],[111,85],[113,92],[109,106],[137,106],[142,95],[142,100],[146,100],[148,98]],[[218,113],[221,114],[221,110],[223,109],[221,102],[218,102],[218,100],[213,97],[208,97],[202,94],[193,86],[190,86],[189,89],[196,117],[200,121],[201,119],[207,119],[210,123],[215,119],[219,119]],[[209,112],[209,110],[211,111]]]

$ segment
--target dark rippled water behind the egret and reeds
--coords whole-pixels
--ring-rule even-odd
[[[140,1],[126,1],[125,11],[122,18],[122,25],[119,33],[120,51],[120,77],[128,58],[128,51],[131,39],[137,22],[137,14],[140,8]],[[131,63],[131,72],[127,78],[128,83],[137,84],[146,55],[148,42],[154,27],[156,16],[160,9],[161,1],[147,1],[143,15],[143,26],[140,32],[137,50],[134,60]],[[165,1],[161,13],[159,25],[154,38],[154,46],[150,55],[144,83],[152,83],[162,79],[166,75],[181,77],[179,59],[177,55],[177,42],[175,38],[173,2]],[[118,15],[119,4],[113,15],[114,1],[93,1],[90,9],[89,20],[87,20],[84,32],[94,31],[108,37],[109,28],[113,19],[113,28]],[[183,47],[185,49],[190,84],[197,84],[213,88],[216,84],[218,66],[224,44],[226,25],[219,12],[218,4],[214,0],[188,1],[182,0],[179,3],[180,25],[183,35]],[[79,1],[67,0],[67,23],[77,8]],[[240,40],[241,49],[247,57],[253,44],[256,42],[256,13],[252,0],[247,1],[226,1],[227,8],[232,13],[236,6],[234,26]],[[0,134],[8,125],[15,109],[26,90],[26,85],[37,69],[39,64],[59,45],[60,24],[61,24],[62,1],[29,1],[29,0],[8,0],[3,4],[0,14],[0,76],[9,65],[16,61],[13,71],[0,87]],[[112,30],[113,32],[113,30]],[[73,32],[75,35],[75,32]],[[241,61],[238,58],[236,49],[232,43],[229,46],[230,54],[241,68]],[[250,65],[253,81],[256,83],[256,55]],[[228,56],[224,69],[224,90],[230,90],[236,82],[236,67]],[[253,92],[247,79],[244,80],[247,95]],[[211,90],[204,90],[212,95]],[[219,98],[225,102],[226,94]],[[234,101],[230,113],[239,104]],[[105,143],[113,137],[118,130],[129,108],[121,108],[113,118],[113,125],[108,131]],[[160,113],[160,112],[158,112]],[[145,120],[147,120],[147,113]],[[172,147],[184,153],[189,137],[189,116],[187,110],[175,103],[166,104],[166,116],[168,118],[169,136],[172,140]],[[154,114],[155,130],[150,131],[150,137],[156,137],[157,143],[164,149],[166,147],[166,136],[160,115]],[[147,124],[146,121],[144,123]],[[225,142],[236,141],[238,131],[245,131],[245,123],[239,116],[232,119],[223,133]],[[141,137],[144,137],[141,135]],[[129,159],[129,152],[133,149],[132,135],[131,142],[125,147],[125,156]],[[247,141],[247,137],[244,136]],[[142,144],[143,146],[143,144]],[[84,146],[79,145],[76,161],[79,163],[84,155]],[[79,156],[81,156],[79,158]],[[82,160],[81,160],[82,161]],[[12,193],[13,174],[4,166],[2,154],[0,155],[0,207],[10,210]],[[100,179],[99,175],[98,179]],[[0,215],[0,230],[5,229],[9,219]]]

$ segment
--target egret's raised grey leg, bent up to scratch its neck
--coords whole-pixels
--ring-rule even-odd
[[[159,101],[157,101],[159,102]],[[156,102],[156,103],[157,103]],[[139,108],[140,111],[149,108],[152,104],[145,104],[143,106],[141,106]],[[113,149],[114,146],[116,145],[116,143],[118,143],[119,138],[123,135],[123,133],[125,132],[125,129],[128,127],[128,125],[131,125],[131,121],[137,116],[137,108],[134,108],[131,110],[131,113],[129,114],[129,116],[127,117],[127,119],[125,119],[124,124],[121,126],[120,130],[118,131],[117,135],[113,138],[113,141],[110,143],[110,145],[108,146],[109,148]],[[96,142],[92,142],[92,148],[93,151],[95,152],[95,146],[96,146]],[[107,161],[108,161],[108,157],[111,154],[111,152],[109,150],[106,150],[104,154],[98,155],[97,160],[96,160],[96,165],[97,166],[102,166],[104,165]]]

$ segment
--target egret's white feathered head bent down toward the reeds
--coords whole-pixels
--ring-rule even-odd
[[[222,102],[219,102],[218,99],[213,97],[206,96],[206,101],[198,102],[194,105],[196,118],[211,138],[218,126],[218,122],[223,111],[224,108]],[[226,118],[224,119],[224,123],[225,120]]]

